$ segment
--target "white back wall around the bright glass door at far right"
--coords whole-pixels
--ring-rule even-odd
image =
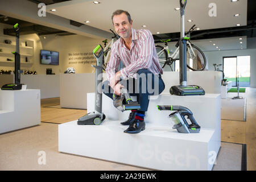
[[[213,64],[222,64],[223,57],[226,56],[251,56],[250,60],[250,86],[256,87],[256,49],[240,49],[231,51],[204,51],[207,57],[209,70],[214,70]],[[222,69],[222,67],[220,68]]]

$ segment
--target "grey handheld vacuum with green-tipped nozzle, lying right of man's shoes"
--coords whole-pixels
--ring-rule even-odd
[[[174,125],[172,129],[177,129],[179,133],[199,133],[200,126],[197,124],[195,118],[193,117],[193,113],[187,107],[183,106],[160,106],[157,105],[158,110],[176,110],[174,113],[169,115],[169,118]],[[191,121],[189,125],[185,116]]]

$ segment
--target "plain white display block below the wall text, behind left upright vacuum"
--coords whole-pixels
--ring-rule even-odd
[[[95,90],[95,73],[60,74],[60,106],[87,109],[87,93]]]

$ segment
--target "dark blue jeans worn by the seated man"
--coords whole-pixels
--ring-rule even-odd
[[[137,80],[122,80],[120,83],[129,91],[130,96],[137,96],[137,101],[141,105],[141,111],[147,111],[149,104],[148,96],[157,96],[163,92],[165,85],[161,75],[154,75],[147,69],[139,69]],[[129,85],[130,82],[130,85]],[[104,94],[113,99],[114,90],[105,81],[102,85]]]

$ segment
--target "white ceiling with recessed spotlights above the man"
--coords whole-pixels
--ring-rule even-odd
[[[180,11],[175,11],[179,7],[179,0],[98,0],[100,4],[95,5],[93,1],[73,0],[53,5],[47,5],[47,12],[63,18],[72,19],[76,22],[85,23],[92,27],[108,31],[113,28],[111,16],[117,9],[127,10],[133,19],[133,27],[141,29],[146,25],[146,29],[152,34],[179,32],[180,31]],[[217,16],[210,17],[208,7],[210,3],[216,3]],[[51,9],[56,9],[53,13]],[[233,16],[240,14],[240,16]],[[187,22],[192,19],[193,22]],[[247,25],[247,0],[231,2],[231,0],[188,0],[185,7],[185,31],[193,24],[200,30],[235,27],[239,23],[241,26]]]

